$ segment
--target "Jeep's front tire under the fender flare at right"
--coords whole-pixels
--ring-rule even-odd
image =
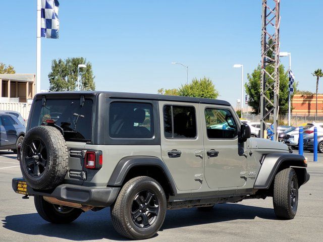
[[[291,189],[292,183],[294,184],[294,193]],[[291,205],[291,193],[295,195],[293,207]],[[276,174],[273,203],[274,211],[278,218],[293,219],[295,217],[298,205],[298,182],[297,175],[293,168],[281,170]]]

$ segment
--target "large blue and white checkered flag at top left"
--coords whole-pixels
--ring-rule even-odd
[[[41,0],[41,37],[59,38],[59,6],[58,0]]]

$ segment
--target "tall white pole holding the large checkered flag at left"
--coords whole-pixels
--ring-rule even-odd
[[[40,92],[41,0],[37,0],[36,93]]]

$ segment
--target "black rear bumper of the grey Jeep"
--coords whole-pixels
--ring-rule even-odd
[[[13,178],[12,188],[16,192],[17,181],[23,178]],[[84,187],[72,184],[62,184],[50,191],[34,190],[27,186],[29,196],[39,195],[57,198],[62,201],[89,205],[93,207],[109,207],[111,206],[121,188],[114,187]]]

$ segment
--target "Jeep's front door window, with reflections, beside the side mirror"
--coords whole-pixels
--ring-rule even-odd
[[[206,108],[204,114],[208,138],[230,139],[237,136],[237,124],[230,110]]]

